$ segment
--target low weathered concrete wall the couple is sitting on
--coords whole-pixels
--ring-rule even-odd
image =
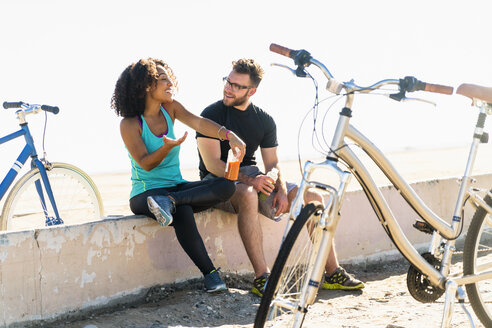
[[[477,177],[491,187],[492,174]],[[415,183],[431,209],[450,219],[455,179]],[[415,245],[429,235],[412,228],[416,214],[394,188],[383,188],[394,214]],[[467,213],[469,224],[472,213]],[[250,272],[234,215],[214,210],[197,215],[214,264],[223,271]],[[267,261],[273,264],[284,222],[262,218]],[[396,258],[389,238],[362,191],[347,194],[336,236],[342,263]],[[145,217],[107,218],[78,226],[0,233],[0,326],[50,320],[83,309],[141,297],[148,288],[200,277],[180,248],[174,230]]]

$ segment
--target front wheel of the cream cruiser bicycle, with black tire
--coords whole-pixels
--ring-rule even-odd
[[[272,273],[268,279],[255,318],[255,328],[292,327],[292,320],[300,319],[301,327],[306,313],[297,307],[302,295],[301,288],[310,275],[314,259],[319,252],[322,229],[317,229],[323,206],[312,202],[303,207],[294,221],[278,252]],[[311,227],[311,233],[304,231]],[[281,308],[280,302],[289,303],[290,309]],[[289,318],[290,317],[290,318]],[[290,320],[289,320],[290,319]],[[298,321],[299,322],[299,321]]]

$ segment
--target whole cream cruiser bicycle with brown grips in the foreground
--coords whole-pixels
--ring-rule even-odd
[[[360,93],[398,88],[390,98],[406,99],[406,93],[429,91],[452,94],[453,88],[428,84],[414,77],[388,79],[368,87],[356,85],[353,80],[337,82],[323,63],[305,50],[290,50],[275,44],[270,50],[294,60],[297,69],[290,69],[299,77],[309,75],[306,67],[314,65],[328,80],[327,90],[342,95],[342,108],[326,160],[321,163],[306,162],[299,191],[294,199],[282,242],[264,296],[258,309],[255,327],[301,327],[309,315],[319,286],[322,284],[324,264],[331,241],[340,220],[340,208],[351,176],[355,176],[371,203],[383,229],[396,248],[410,262],[407,285],[411,295],[421,302],[433,302],[445,293],[441,327],[449,327],[455,300],[473,321],[464,307],[466,291],[477,317],[486,327],[492,327],[492,192],[472,187],[471,172],[480,143],[487,142],[483,131],[487,115],[492,114],[492,88],[463,84],[457,93],[473,99],[479,109],[473,142],[470,147],[465,173],[460,182],[453,217],[440,218],[426,206],[407,182],[397,173],[384,154],[361,132],[350,124],[354,97]],[[353,147],[360,147],[386,175],[406,202],[422,218],[416,227],[433,234],[429,251],[419,254],[409,242],[389,208],[371,173],[362,164]],[[337,177],[334,185],[311,179],[317,170],[331,171]],[[304,206],[304,193],[308,188],[318,188],[328,194],[324,206],[309,203]],[[465,203],[476,209],[465,239],[463,271],[451,270],[456,239],[463,232]],[[449,222],[450,221],[450,222]],[[453,268],[454,269],[454,268]],[[327,326],[329,318],[327,318]]]

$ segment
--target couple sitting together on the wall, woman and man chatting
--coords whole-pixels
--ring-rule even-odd
[[[204,275],[208,292],[227,287],[207,254],[193,213],[210,207],[237,213],[239,234],[255,271],[251,291],[261,297],[270,269],[259,213],[273,218],[288,212],[297,192],[281,171],[273,185],[256,166],[254,155],[260,147],[265,171],[279,168],[275,122],[250,101],[262,76],[262,68],[251,59],[233,62],[224,78],[223,99],[199,117],[174,99],[177,81],[171,68],[162,60],[142,59],[123,71],[111,100],[123,117],[120,132],[132,164],[132,212],[174,227],[178,242]],[[176,138],[176,119],[197,132],[201,181],[188,182],[181,176],[179,148],[187,134]],[[229,149],[242,160],[237,184],[224,178]],[[259,200],[258,192],[271,196]],[[306,201],[313,200],[323,202],[320,194],[309,191]],[[339,266],[334,245],[325,269],[324,289],[364,288]]]

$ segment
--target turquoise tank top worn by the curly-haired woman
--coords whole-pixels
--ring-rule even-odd
[[[165,135],[168,138],[175,139],[173,121],[162,106],[161,111],[167,122],[167,132]],[[158,137],[150,131],[143,115],[140,118],[142,119],[142,140],[147,151],[152,153],[164,145],[164,141],[162,141],[162,136]],[[142,169],[130,153],[128,153],[132,163],[132,190],[130,198],[150,189],[169,188],[187,182],[181,176],[181,170],[179,169],[179,147],[174,147],[164,160],[150,171]]]

